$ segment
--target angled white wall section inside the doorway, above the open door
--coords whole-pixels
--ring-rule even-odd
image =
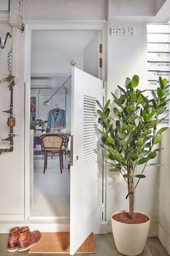
[[[99,77],[99,36],[96,35],[84,48],[84,71]]]

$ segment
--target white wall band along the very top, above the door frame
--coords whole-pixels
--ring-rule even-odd
[[[11,1],[10,22],[17,24],[19,0]],[[107,0],[23,0],[24,20],[105,20]],[[37,11],[38,10],[38,11]]]

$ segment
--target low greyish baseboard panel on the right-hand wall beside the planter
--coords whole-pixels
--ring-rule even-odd
[[[170,234],[160,223],[158,223],[158,239],[170,255]]]

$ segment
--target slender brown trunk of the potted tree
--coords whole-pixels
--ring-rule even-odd
[[[129,194],[129,217],[133,219],[134,213],[134,185],[133,185],[133,170],[129,170],[130,178],[128,178],[128,194]]]

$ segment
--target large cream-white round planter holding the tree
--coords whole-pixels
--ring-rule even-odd
[[[136,212],[142,213],[140,211]],[[112,213],[112,216],[117,213],[121,213],[121,211]],[[148,216],[146,213],[143,214]],[[140,255],[145,247],[146,239],[148,237],[150,216],[148,216],[149,220],[147,222],[140,224],[121,223],[115,221],[112,216],[112,233],[117,251],[122,255]]]

